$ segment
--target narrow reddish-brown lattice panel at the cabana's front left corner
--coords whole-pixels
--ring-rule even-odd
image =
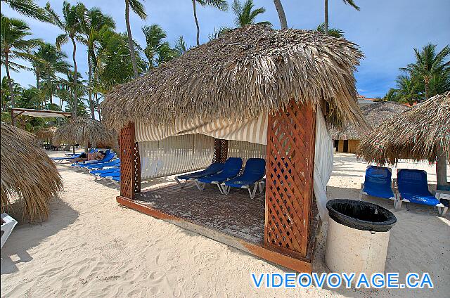
[[[134,152],[134,124],[120,130],[120,195],[134,198],[136,156]]]

